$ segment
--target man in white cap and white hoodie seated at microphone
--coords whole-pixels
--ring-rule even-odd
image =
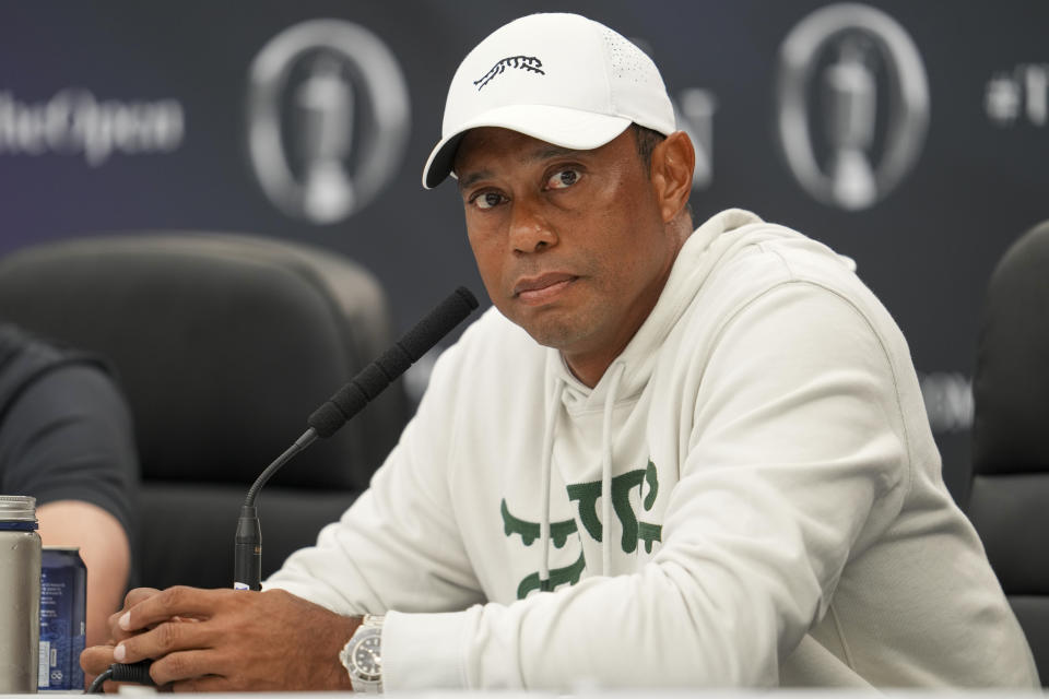
[[[90,672],[1037,686],[898,329],[800,234],[743,211],[692,230],[692,145],[641,51],[575,15],[512,22],[463,60],[443,135],[424,185],[458,178],[495,309],[315,548],[262,593],[133,592]]]

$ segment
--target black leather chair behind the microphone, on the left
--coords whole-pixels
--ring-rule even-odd
[[[0,318],[108,359],[141,460],[139,584],[225,588],[248,486],[392,337],[385,294],[329,251],[227,234],[91,237],[0,259]],[[396,382],[262,490],[262,572],[367,486],[408,419]]]

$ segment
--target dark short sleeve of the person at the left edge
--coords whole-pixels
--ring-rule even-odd
[[[33,380],[0,423],[0,491],[37,505],[82,500],[130,537],[138,459],[127,405],[95,365],[63,364]]]

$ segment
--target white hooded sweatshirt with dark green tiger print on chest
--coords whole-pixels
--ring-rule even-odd
[[[266,587],[386,612],[388,690],[1038,686],[896,324],[847,259],[738,210],[593,389],[486,312]]]

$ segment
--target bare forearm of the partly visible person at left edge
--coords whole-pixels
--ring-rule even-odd
[[[57,500],[36,509],[45,546],[79,546],[87,567],[87,645],[109,638],[108,618],[120,608],[131,567],[128,535],[116,517],[97,505]]]

